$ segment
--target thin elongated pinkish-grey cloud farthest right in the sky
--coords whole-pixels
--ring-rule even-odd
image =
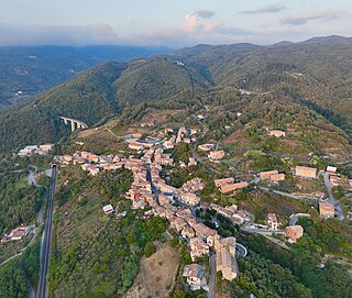
[[[340,14],[340,10],[324,9],[302,14],[294,14],[280,20],[284,25],[302,25],[312,20],[336,19]]]

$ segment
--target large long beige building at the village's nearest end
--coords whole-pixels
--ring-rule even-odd
[[[217,252],[217,272],[221,272],[224,279],[230,282],[233,280],[238,276],[235,238],[217,238],[215,249]]]

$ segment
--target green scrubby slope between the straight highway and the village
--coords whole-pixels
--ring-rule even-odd
[[[68,189],[67,179],[75,180]],[[103,214],[101,207],[108,202],[120,211],[130,203],[123,196],[131,181],[123,169],[98,177],[77,175],[72,168],[62,173],[50,269],[54,297],[121,296],[130,288],[140,258],[154,252],[153,241],[162,240],[166,228],[164,220],[143,221],[130,209],[122,220]]]

